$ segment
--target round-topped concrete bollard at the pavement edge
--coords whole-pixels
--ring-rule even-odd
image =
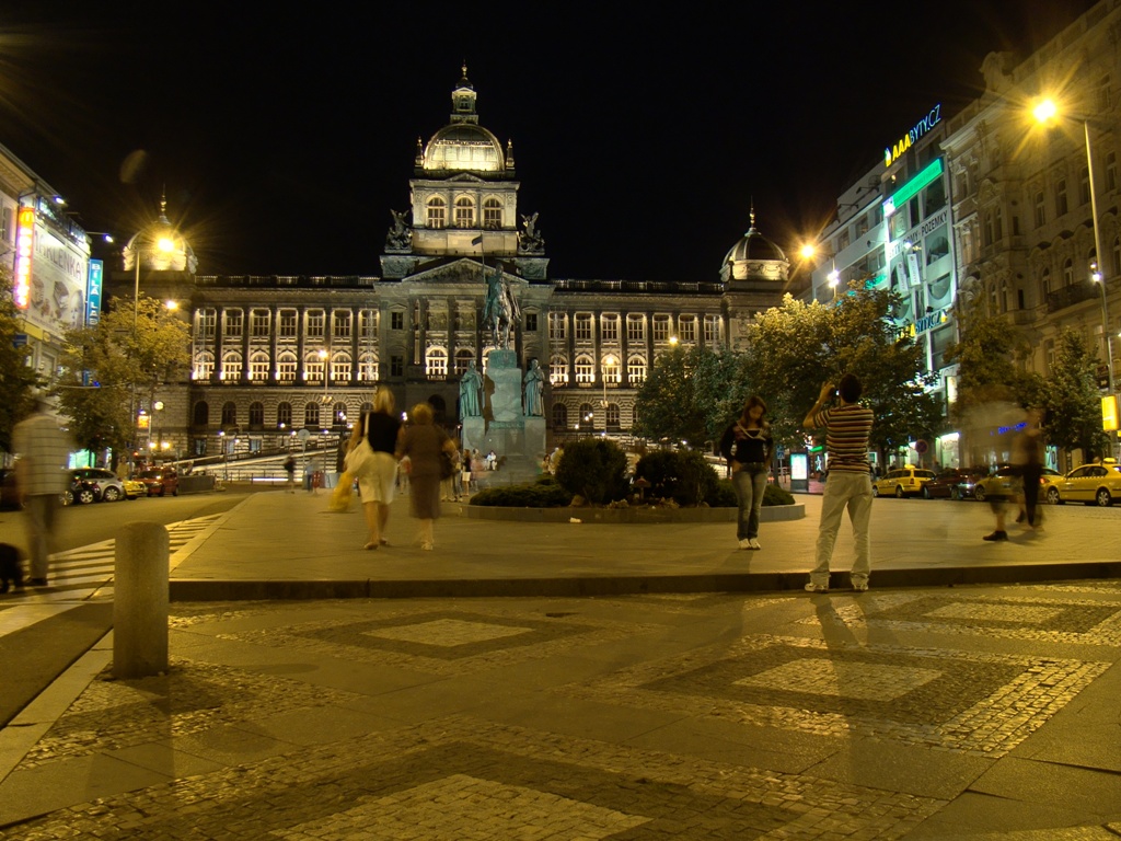
[[[113,676],[167,671],[170,542],[158,523],[130,523],[117,538],[113,566]]]

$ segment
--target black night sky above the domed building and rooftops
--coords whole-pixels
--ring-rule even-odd
[[[378,275],[465,59],[553,277],[710,280],[752,197],[791,252],[933,104],[980,94],[986,53],[1093,3],[285,6],[9,9],[0,142],[89,230],[133,232],[166,184],[200,274]]]

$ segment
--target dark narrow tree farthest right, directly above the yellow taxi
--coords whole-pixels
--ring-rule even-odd
[[[1032,401],[1047,410],[1047,441],[1064,450],[1082,450],[1086,461],[1092,454],[1110,454],[1109,436],[1102,431],[1097,364],[1081,333],[1062,330],[1050,375],[1043,380],[1039,399]]]

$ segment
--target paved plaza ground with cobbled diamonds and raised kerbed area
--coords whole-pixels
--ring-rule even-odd
[[[878,585],[1088,569],[1080,540],[1110,570],[1115,511],[1048,509],[1044,537],[993,547],[982,506],[878,501],[872,590],[810,595],[759,584],[805,581],[819,500],[765,524],[758,553],[728,524],[624,542],[454,512],[421,552],[400,509],[399,545],[362,552],[360,515],[324,501],[256,495],[179,529],[173,579],[214,583],[173,602],[172,668],[111,680],[110,634],[0,731],[0,839],[1121,835],[1121,580]],[[458,586],[491,566],[648,591],[307,598],[328,573]],[[696,574],[741,585],[688,591]],[[213,598],[266,579],[294,598]],[[59,590],[31,598],[61,610]]]

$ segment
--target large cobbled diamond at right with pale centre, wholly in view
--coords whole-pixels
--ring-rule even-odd
[[[700,718],[997,757],[1109,665],[756,635],[558,691]]]

